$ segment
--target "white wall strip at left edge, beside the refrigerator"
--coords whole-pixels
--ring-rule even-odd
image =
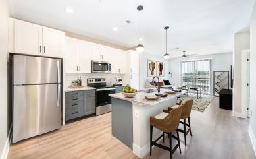
[[[6,0],[0,0],[0,157],[9,132],[7,108],[7,49],[8,49],[9,7]]]

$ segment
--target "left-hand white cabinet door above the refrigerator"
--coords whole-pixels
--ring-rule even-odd
[[[15,20],[14,34],[15,53],[31,55],[39,55],[42,53],[42,26]]]

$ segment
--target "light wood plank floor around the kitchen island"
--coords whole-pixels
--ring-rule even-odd
[[[232,117],[232,111],[219,109],[218,98],[203,113],[193,110],[190,119],[193,137],[188,135],[184,146],[180,133],[182,154],[176,150],[173,158],[256,158],[247,133],[249,119]],[[161,148],[154,148],[152,153],[145,158],[169,158],[169,152]],[[111,113],[107,113],[12,144],[8,158],[138,157],[111,135]]]

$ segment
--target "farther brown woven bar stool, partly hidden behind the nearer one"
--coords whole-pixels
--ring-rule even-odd
[[[184,130],[178,129],[181,133],[184,133],[184,139],[185,139],[185,145],[186,145],[186,135],[190,133],[192,136],[191,131],[191,125],[190,125],[190,114],[192,110],[192,104],[193,104],[193,98],[190,98],[188,100],[183,101],[180,106],[182,106],[182,113],[180,119],[183,119],[183,121],[180,121],[184,125]],[[168,112],[170,112],[173,108],[168,107]],[[186,119],[188,119],[188,123],[186,123]],[[186,126],[188,126],[188,131],[186,131]]]

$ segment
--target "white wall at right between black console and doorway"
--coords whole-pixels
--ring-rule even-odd
[[[241,51],[250,49],[250,33],[239,32],[234,35],[234,90],[233,90],[233,108],[234,115],[242,113],[241,106]]]

